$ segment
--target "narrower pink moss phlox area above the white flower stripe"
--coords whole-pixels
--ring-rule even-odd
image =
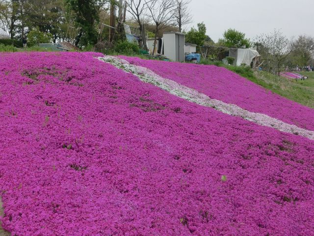
[[[125,56],[121,58],[132,64],[147,67],[163,78],[205,93],[210,98],[314,130],[313,109],[263,89],[223,67]]]

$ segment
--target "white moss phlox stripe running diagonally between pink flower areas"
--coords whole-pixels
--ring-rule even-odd
[[[171,94],[179,96],[190,102],[194,102],[202,106],[211,107],[225,114],[229,114],[235,117],[241,117],[260,125],[272,127],[282,132],[297,134],[314,140],[314,131],[306,130],[296,125],[285,123],[279,119],[269,117],[265,114],[246,111],[235,104],[228,104],[220,100],[211,99],[209,98],[209,96],[198,92],[195,89],[191,89],[172,80],[162,78],[155,72],[142,66],[132,65],[124,59],[112,56],[100,57],[98,59],[110,63],[117,68],[123,69],[126,72],[130,72],[136,75],[143,82],[155,85],[161,89],[170,92]]]

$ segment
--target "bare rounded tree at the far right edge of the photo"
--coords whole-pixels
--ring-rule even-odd
[[[314,57],[314,37],[300,35],[293,41],[292,59],[301,66],[309,65]]]

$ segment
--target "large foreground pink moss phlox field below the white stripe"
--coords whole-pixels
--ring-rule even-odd
[[[0,54],[3,228],[314,235],[313,141],[188,102],[99,56]]]

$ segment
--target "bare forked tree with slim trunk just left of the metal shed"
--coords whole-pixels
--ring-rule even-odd
[[[146,0],[150,19],[155,23],[155,41],[153,55],[156,49],[157,35],[160,29],[173,22],[175,2],[173,0]]]

